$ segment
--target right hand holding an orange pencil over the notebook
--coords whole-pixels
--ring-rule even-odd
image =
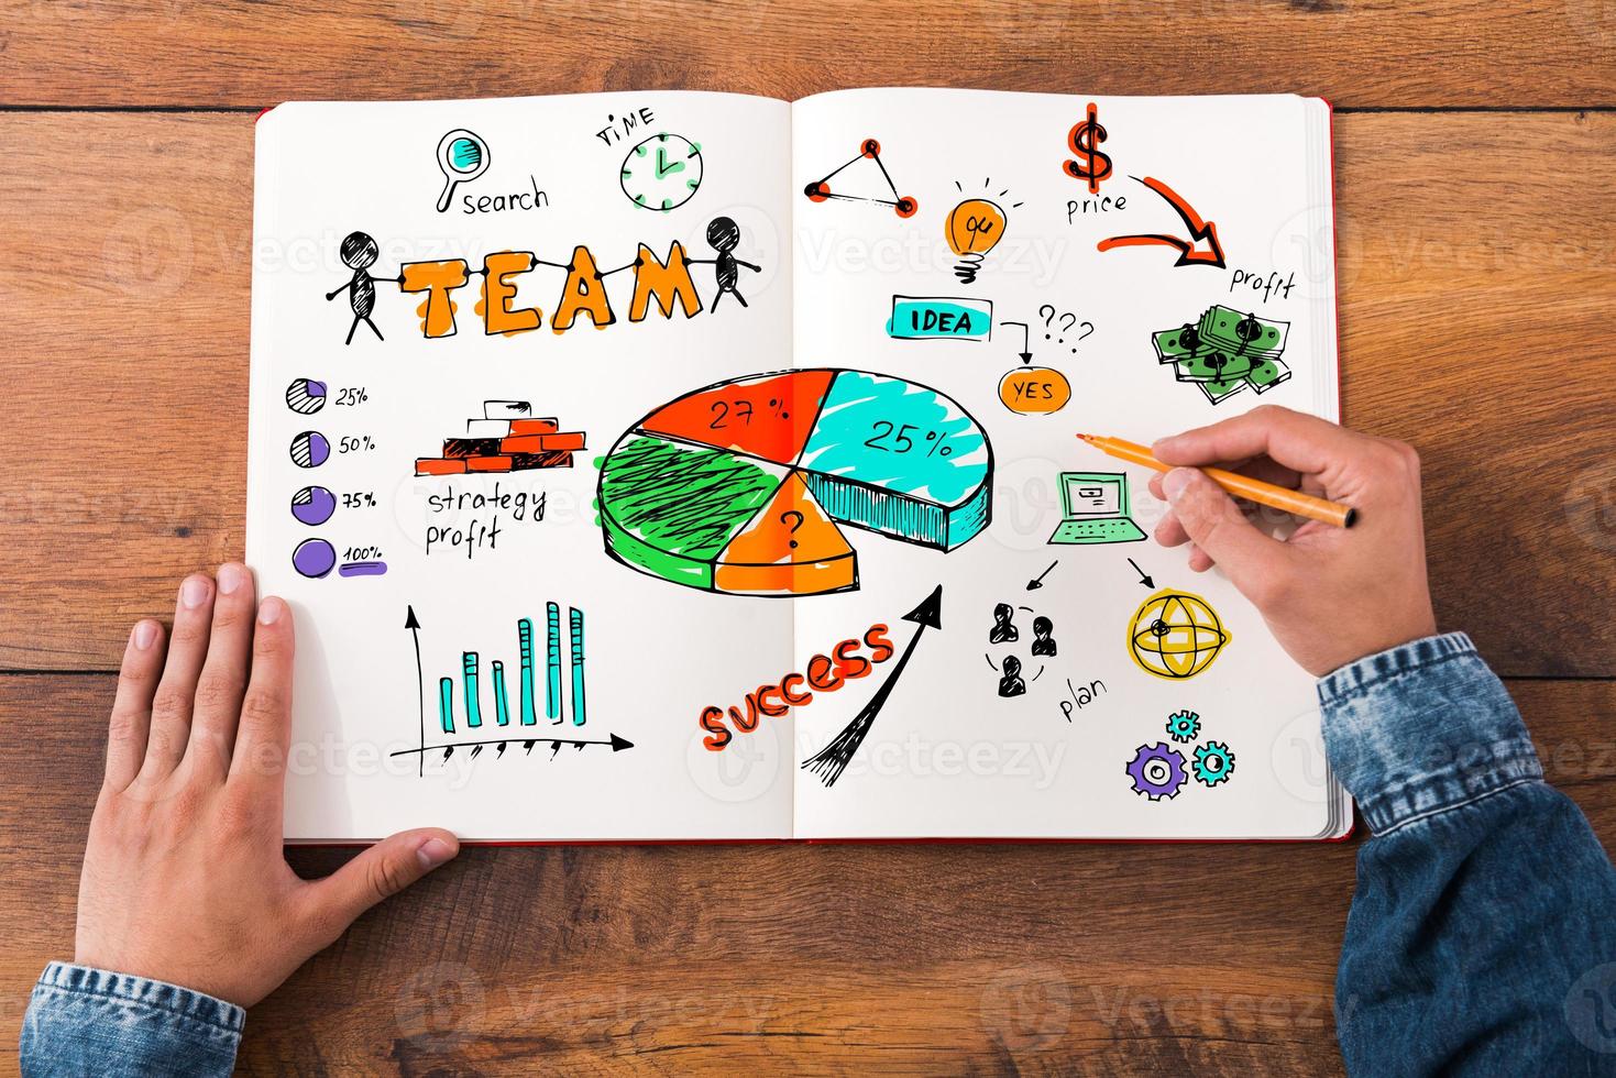
[[[1193,543],[1196,572],[1222,566],[1312,674],[1437,632],[1412,448],[1262,406],[1162,438],[1152,451],[1165,464],[1189,465],[1151,480],[1151,493],[1172,504],[1157,541]],[[1259,532],[1199,467],[1346,503],[1357,522],[1338,528],[1307,520],[1281,543]]]

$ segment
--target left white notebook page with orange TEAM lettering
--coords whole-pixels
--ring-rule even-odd
[[[420,824],[491,840],[790,834],[790,721],[753,737],[745,758],[708,752],[696,726],[703,705],[726,701],[732,671],[789,663],[787,604],[727,601],[619,564],[595,507],[596,461],[643,415],[721,378],[789,365],[789,147],[784,102],[714,94],[296,103],[259,121],[247,554],[260,588],[286,596],[297,619],[288,837],[372,839]],[[719,270],[698,262],[700,314],[664,317],[651,299],[633,322],[638,246],[664,260],[679,241],[687,257],[713,260],[718,218],[739,233],[730,254],[756,268],[735,267],[714,305]],[[360,229],[375,239],[373,262],[360,242],[344,263],[344,238]],[[593,328],[582,314],[556,333],[569,280],[559,267],[575,246],[603,273],[627,268],[595,281],[614,323]],[[556,263],[509,278],[517,291],[504,305],[537,307],[538,330],[490,333],[473,275],[449,294],[454,335],[428,336],[423,317],[443,307],[417,314],[428,293],[393,280],[404,263],[464,259],[477,270],[506,251]],[[377,278],[370,322],[356,322],[349,291],[325,296],[344,289],[354,262]],[[304,378],[322,385],[292,390]],[[469,428],[485,401],[528,402],[491,409],[504,422],[528,412],[528,425]],[[559,441],[498,440],[543,436],[532,420],[546,417]],[[304,432],[323,441],[297,443]],[[569,449],[558,446],[577,433],[587,448],[562,467]],[[485,440],[470,446],[480,457],[528,456],[507,474],[417,475],[419,457],[454,467],[441,464],[454,459],[444,441],[473,436]],[[301,467],[294,454],[326,459]],[[323,491],[294,506],[305,486],[331,493],[328,517]],[[516,503],[449,501],[496,490],[527,498],[525,516]],[[433,507],[435,498],[444,501]],[[428,550],[430,528],[440,532]],[[310,540],[299,569],[294,551]],[[385,572],[344,575],[349,562]],[[519,619],[530,624],[530,724]],[[477,726],[465,653],[477,655]],[[454,732],[443,729],[440,679]],[[632,748],[614,748],[614,737]],[[473,755],[473,742],[490,743]],[[457,748],[444,758],[423,743]]]

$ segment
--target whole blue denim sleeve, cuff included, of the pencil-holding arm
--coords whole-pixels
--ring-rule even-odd
[[[1372,836],[1336,975],[1364,1075],[1616,1073],[1616,871],[1464,634],[1319,682]]]

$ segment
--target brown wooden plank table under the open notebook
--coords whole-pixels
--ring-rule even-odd
[[[1167,6],[1167,5],[1162,5]],[[1349,423],[1616,836],[1605,0],[10,0],[0,1031],[73,947],[123,638],[242,554],[252,120],[288,99],[871,84],[1333,100]],[[244,1072],[1340,1070],[1341,845],[469,850],[247,1023]],[[292,853],[323,873],[339,850]]]

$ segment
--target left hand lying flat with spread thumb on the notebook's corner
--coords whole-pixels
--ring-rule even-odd
[[[250,1007],[367,908],[459,852],[396,834],[333,876],[281,853],[292,617],[244,566],[179,587],[173,640],[129,634],[90,821],[74,960]]]

